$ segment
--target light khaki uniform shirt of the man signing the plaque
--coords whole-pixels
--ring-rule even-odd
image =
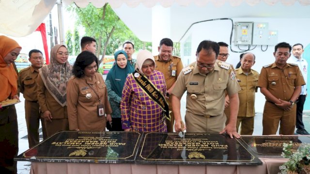
[[[187,73],[186,70],[190,72]],[[212,72],[201,74],[196,62],[193,62],[183,69],[183,73],[180,73],[172,94],[181,98],[187,90],[186,110],[188,112],[201,116],[218,116],[224,111],[225,89],[229,95],[240,90],[228,63],[217,60]],[[196,95],[197,99],[191,99],[192,94]]]

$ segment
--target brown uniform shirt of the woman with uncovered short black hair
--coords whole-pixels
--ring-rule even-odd
[[[95,73],[93,80],[71,77],[67,85],[67,105],[70,130],[105,131],[106,118],[98,116],[97,105],[104,105],[105,114],[111,114],[106,84],[100,73]]]

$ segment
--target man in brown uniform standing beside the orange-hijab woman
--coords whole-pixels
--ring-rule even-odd
[[[39,126],[41,120],[43,138],[45,139],[46,131],[44,119],[40,115],[40,106],[37,96],[37,77],[39,69],[43,66],[43,54],[40,50],[33,49],[29,52],[29,61],[31,66],[19,72],[20,92],[25,98],[25,116],[28,131],[29,147],[39,144]]]

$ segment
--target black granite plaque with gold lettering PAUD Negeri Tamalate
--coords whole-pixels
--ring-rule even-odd
[[[16,160],[40,162],[133,162],[139,132],[62,131],[18,155]]]

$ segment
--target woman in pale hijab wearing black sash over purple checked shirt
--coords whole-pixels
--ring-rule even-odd
[[[121,101],[124,131],[167,132],[169,108],[165,100],[166,82],[163,73],[154,70],[150,51],[137,55],[137,67],[127,76]]]

